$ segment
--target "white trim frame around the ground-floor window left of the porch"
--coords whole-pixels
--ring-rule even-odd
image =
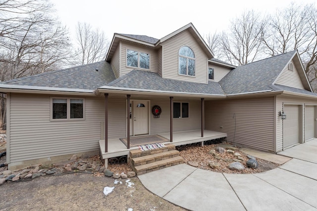
[[[67,100],[67,119],[53,119],[53,99],[66,99]],[[70,118],[70,100],[83,100],[83,118]],[[54,96],[50,98],[50,121],[56,122],[56,121],[77,121],[77,120],[85,120],[86,119],[86,103],[85,98],[83,97],[58,97]]]

